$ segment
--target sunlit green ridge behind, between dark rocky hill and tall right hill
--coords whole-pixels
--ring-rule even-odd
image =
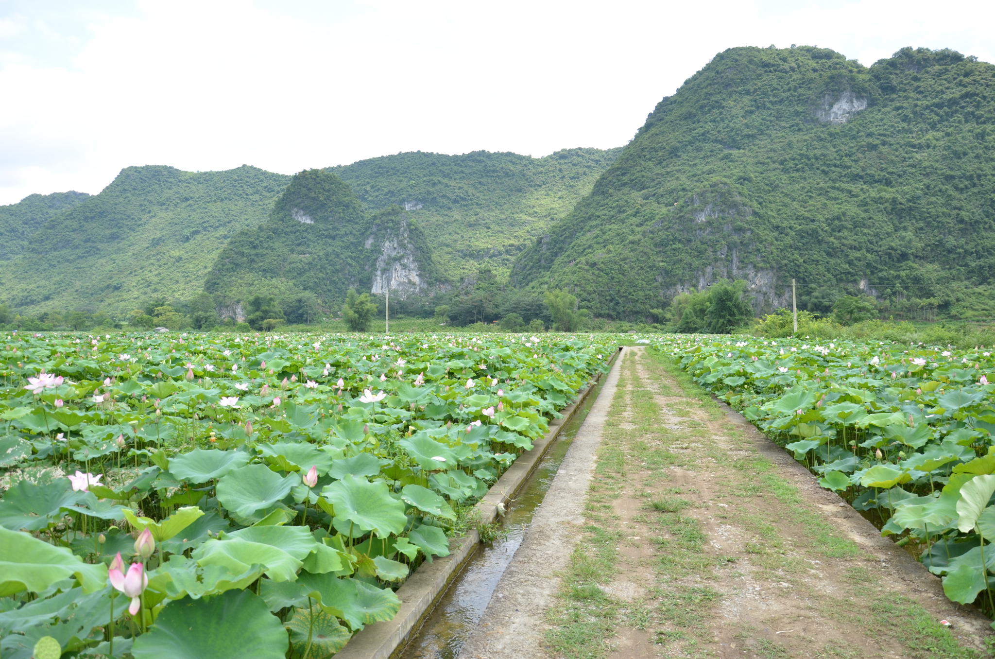
[[[518,253],[590,192],[621,148],[569,148],[541,158],[413,151],[331,171],[370,209],[397,204],[425,232],[440,276],[490,268],[504,278]]]

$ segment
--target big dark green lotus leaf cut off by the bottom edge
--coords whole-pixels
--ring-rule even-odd
[[[284,659],[287,632],[249,590],[184,597],[159,613],[131,648],[134,659]]]

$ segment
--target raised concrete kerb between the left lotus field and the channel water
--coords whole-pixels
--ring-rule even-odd
[[[608,359],[609,367],[615,362],[622,348],[619,347]],[[602,373],[595,375],[578,394],[577,399],[563,408],[562,418],[549,422],[549,431],[532,442],[532,449],[525,451],[504,472],[488,494],[478,502],[481,522],[491,524],[497,518],[498,505],[506,506],[528,477],[542,461],[546,450],[560,429],[584,404],[588,394],[600,381]],[[462,538],[450,540],[450,553],[436,557],[433,562],[423,562],[397,590],[401,600],[401,610],[392,620],[367,625],[352,637],[344,648],[335,653],[335,659],[389,659],[396,650],[405,645],[412,632],[417,631],[424,619],[435,608],[439,597],[446,592],[450,582],[460,573],[467,560],[480,546],[480,535],[473,529]]]

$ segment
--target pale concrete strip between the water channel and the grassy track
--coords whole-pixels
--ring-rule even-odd
[[[541,649],[548,629],[544,614],[559,590],[555,573],[567,566],[583,528],[584,497],[618,383],[619,363],[616,359],[605,378],[461,658],[545,656]]]

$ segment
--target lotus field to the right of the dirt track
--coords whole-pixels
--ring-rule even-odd
[[[891,341],[655,341],[989,614],[995,567],[991,351]]]

